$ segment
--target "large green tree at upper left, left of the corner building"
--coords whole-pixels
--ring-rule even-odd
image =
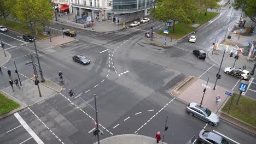
[[[49,0],[6,0],[5,7],[11,17],[22,23],[31,20],[35,28],[43,22],[47,25],[53,19],[54,10]],[[38,34],[37,28],[36,34]]]

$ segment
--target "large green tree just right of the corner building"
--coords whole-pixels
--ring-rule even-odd
[[[197,13],[194,0],[162,0],[156,4],[154,17],[164,22],[172,20],[173,23],[176,21],[189,23],[196,19]],[[174,26],[172,32],[174,32]]]

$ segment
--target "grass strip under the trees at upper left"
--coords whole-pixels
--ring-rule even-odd
[[[31,28],[27,25],[24,25],[22,23],[19,22],[15,22],[15,21],[9,21],[6,20],[6,27],[10,28],[10,29],[14,29],[15,31],[18,31],[20,33],[24,33],[24,34],[31,34]],[[0,25],[5,26],[4,20],[0,20]],[[33,29],[34,31],[34,29]],[[37,29],[38,34],[34,35],[34,37],[36,37],[37,39],[43,39],[43,38],[47,38],[49,37],[48,35],[43,35],[43,29],[38,28]],[[34,34],[36,34],[36,32],[34,31]]]

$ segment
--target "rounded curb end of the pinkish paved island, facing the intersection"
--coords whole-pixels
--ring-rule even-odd
[[[195,79],[195,80],[193,80]],[[180,82],[176,87],[174,87],[172,90],[171,90],[171,94],[174,96],[174,97],[178,97],[179,94],[181,94],[182,92],[185,91],[185,89],[187,89],[190,85],[192,85],[192,83],[194,83],[198,78],[195,77],[195,76],[189,76],[187,77],[187,79],[183,80],[182,82]],[[187,83],[189,83],[189,85],[185,86]],[[179,89],[181,88],[184,88],[181,92],[175,92],[175,91],[178,91]],[[173,94],[173,93],[177,93],[177,94]]]

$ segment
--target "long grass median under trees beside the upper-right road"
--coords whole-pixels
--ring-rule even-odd
[[[207,15],[205,16],[205,13],[201,13],[201,16],[197,17],[197,20],[195,23],[199,23],[200,26],[207,23],[208,21],[212,20],[213,17],[218,15],[219,13],[213,13],[213,12],[207,12]],[[172,37],[174,39],[180,39],[184,37],[184,35],[187,35],[190,32],[193,32],[197,27],[192,27],[194,23],[189,23],[188,25],[184,25],[184,23],[177,23],[174,26],[174,33],[171,33],[172,26],[170,27],[170,32],[167,35],[167,37]],[[165,35],[163,31],[160,31],[158,34]]]

